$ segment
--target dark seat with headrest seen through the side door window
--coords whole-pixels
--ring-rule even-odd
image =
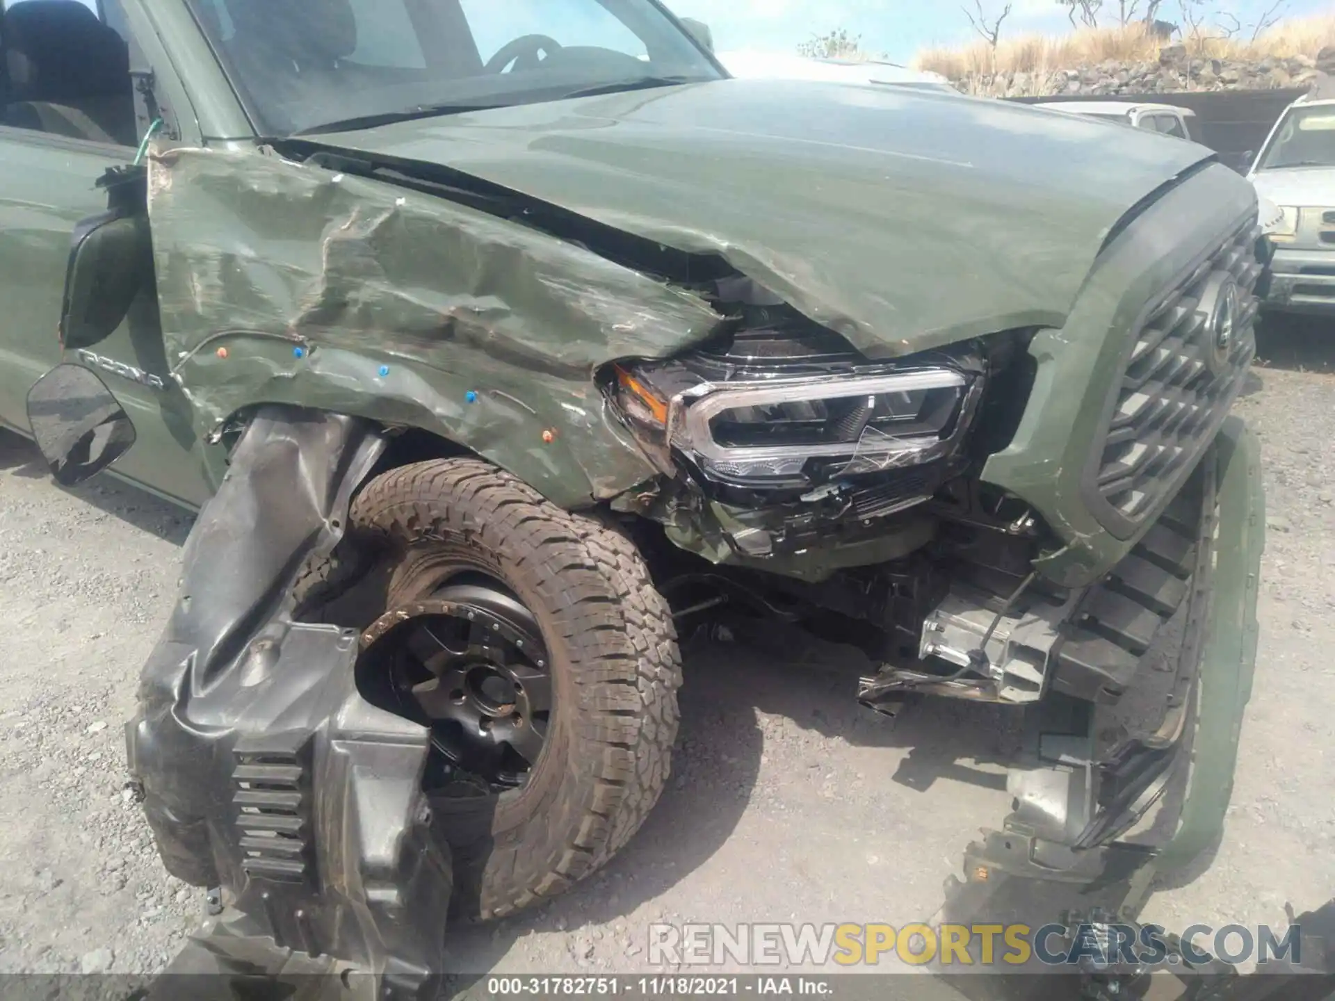
[[[0,21],[12,101],[129,91],[129,47],[80,0],[21,0]]]

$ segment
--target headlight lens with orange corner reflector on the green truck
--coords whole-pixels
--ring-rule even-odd
[[[861,364],[840,374],[710,380],[689,363],[618,366],[622,411],[653,444],[710,479],[809,486],[904,468],[956,450],[976,402],[976,371]]]

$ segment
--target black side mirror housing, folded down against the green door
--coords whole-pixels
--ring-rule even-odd
[[[144,176],[135,168],[108,171],[99,184],[107,188],[109,207],[75,227],[69,248],[60,316],[60,343],[67,351],[108,338],[139,292],[152,287]]]

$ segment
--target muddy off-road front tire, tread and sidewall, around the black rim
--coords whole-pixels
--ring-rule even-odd
[[[457,918],[502,917],[562,893],[630,840],[669,775],[681,655],[643,559],[607,522],[477,459],[384,472],[350,521],[398,561],[387,607],[426,597],[403,578],[427,554],[498,578],[537,618],[555,691],[537,766],[487,806],[437,799],[433,811],[454,852]]]

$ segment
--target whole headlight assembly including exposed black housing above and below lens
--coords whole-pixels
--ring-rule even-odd
[[[816,541],[838,549],[886,535],[885,518],[964,470],[981,344],[874,362],[748,279],[714,283],[713,300],[729,316],[721,338],[610,374],[637,439],[676,480],[657,521],[708,506],[744,562]]]

